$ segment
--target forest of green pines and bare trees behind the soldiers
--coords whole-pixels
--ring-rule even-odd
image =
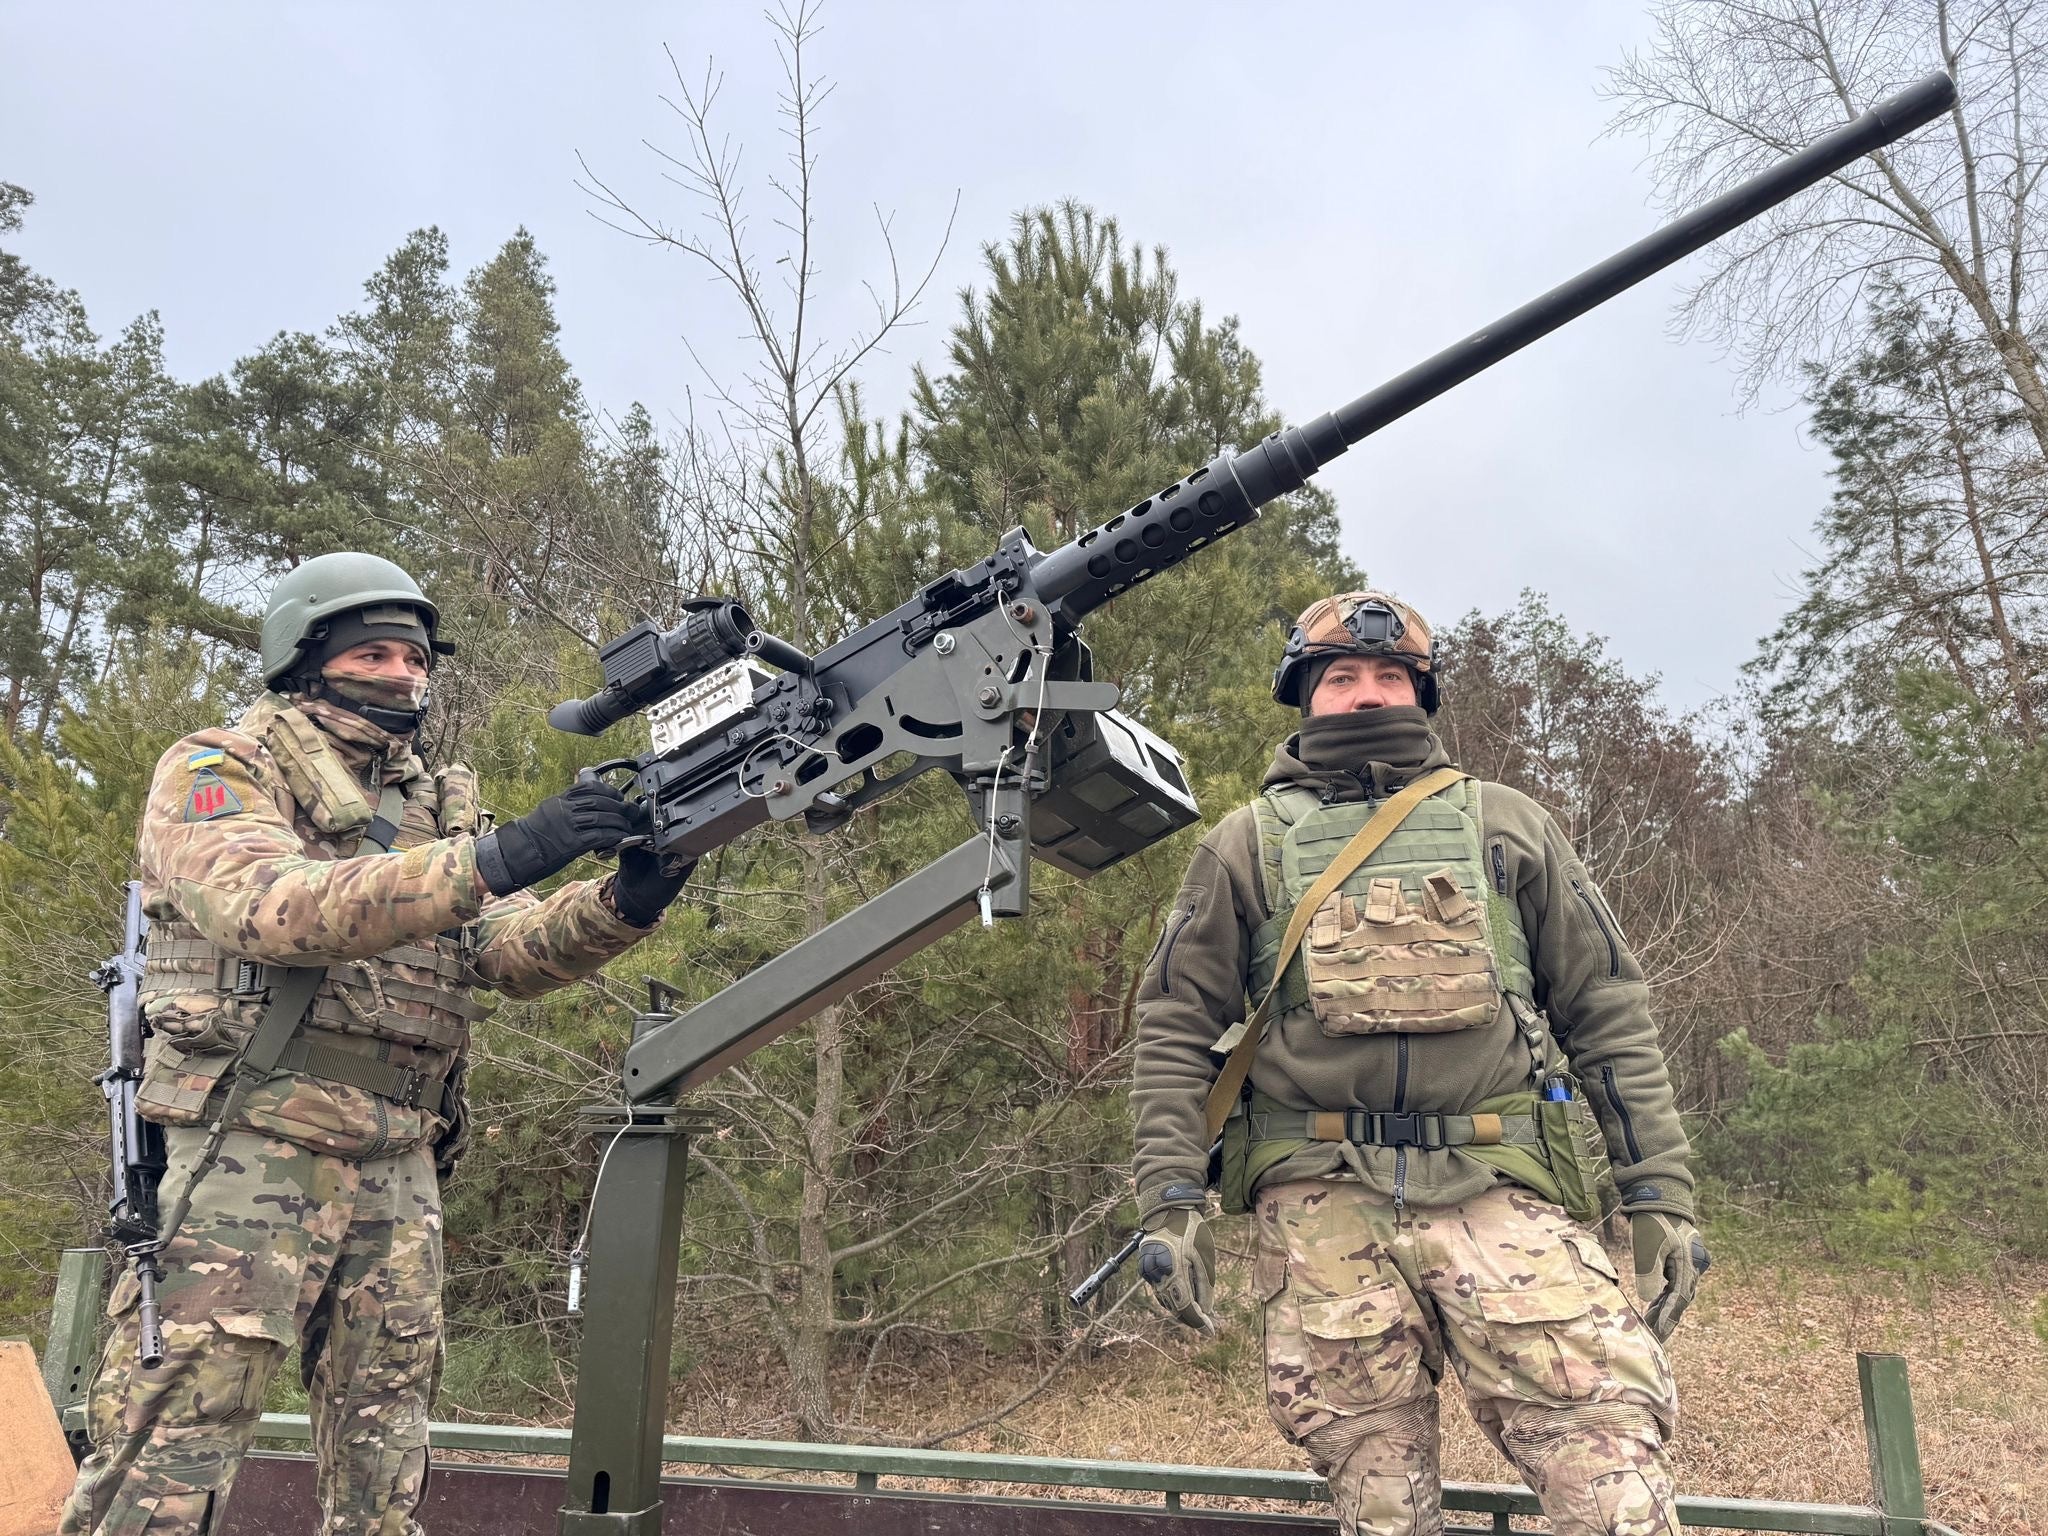
[[[1610,92],[1671,207],[1929,59],[1962,104],[1733,236],[1688,293],[1681,330],[1747,381],[1796,379],[1835,465],[1747,686],[1675,715],[1530,592],[1438,616],[1440,729],[1559,815],[1642,956],[1716,1251],[1989,1276],[2048,1341],[2028,1284],[2048,1260],[2048,23],[1935,0],[1657,14]],[[524,231],[471,272],[414,231],[324,332],[252,336],[197,381],[166,371],[156,315],[102,330],[0,246],[0,1333],[39,1333],[57,1249],[96,1231],[86,973],[117,942],[150,770],[252,698],[281,571],[377,549],[420,578],[461,647],[428,748],[518,815],[637,745],[635,725],[545,725],[635,618],[719,590],[817,649],[1012,524],[1051,547],[1278,426],[1235,322],[1073,203],[958,231],[987,244],[950,313],[905,252],[872,326],[819,338],[815,14],[770,25],[793,131],[770,182],[739,178],[680,74],[670,154],[696,209],[668,223],[588,188],[721,283],[752,338],[754,365],[690,403],[584,395]],[[0,238],[33,213],[0,184]],[[870,399],[862,365],[913,313],[944,319],[944,356]],[[1290,616],[1376,575],[1339,553],[1339,516],[1290,498],[1090,625],[1098,676],[1188,754],[1210,817],[1288,729],[1266,684]],[[567,1407],[565,1253],[594,1171],[573,1116],[616,1071],[637,977],[709,995],[950,848],[954,801],[920,784],[840,834],[756,834],[604,977],[483,1026],[442,1411]],[[1128,1292],[1081,1321],[1063,1292],[1128,1221],[1130,999],[1192,838],[1087,885],[1040,872],[1026,928],[946,940],[698,1096],[717,1130],[692,1149],[680,1397],[743,1364],[764,1434],[940,1440],[1104,1352],[1178,1348]],[[1016,1391],[915,1434],[879,1407],[969,1362]]]

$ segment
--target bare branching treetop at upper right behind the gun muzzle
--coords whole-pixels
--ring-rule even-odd
[[[1608,72],[1610,131],[1640,133],[1663,203],[1688,209],[1841,127],[1931,68],[1944,125],[1874,152],[1743,225],[1706,258],[1679,330],[1733,348],[1751,389],[1853,344],[1878,279],[1960,299],[2042,453],[2034,336],[2048,166],[2044,12],[2028,0],[1661,0],[1657,39]]]

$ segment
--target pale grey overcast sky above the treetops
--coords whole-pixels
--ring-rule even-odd
[[[1329,410],[1655,225],[1642,147],[1602,139],[1626,0],[909,4],[831,0],[813,68],[827,324],[958,219],[877,410],[938,352],[1012,211],[1077,197],[1167,246],[1243,322],[1288,420]],[[592,217],[575,156],[672,219],[664,43],[725,74],[758,223],[784,143],[756,4],[96,6],[0,0],[0,178],[18,240],[102,332],[162,311],[197,379],[324,330],[420,225],[457,268],[526,225],[594,403],[680,412],[739,356],[725,295]],[[1698,258],[1694,258],[1698,260]],[[1737,412],[1726,360],[1667,334],[1686,266],[1386,428],[1323,473],[1346,545],[1440,625],[1538,588],[1696,707],[1792,602],[1827,455],[1790,393]],[[1102,514],[1116,512],[1104,506]]]

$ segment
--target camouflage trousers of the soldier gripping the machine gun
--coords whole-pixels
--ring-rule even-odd
[[[170,1130],[166,1208],[207,1133]],[[346,1159],[231,1133],[164,1255],[164,1364],[137,1360],[135,1276],[92,1386],[66,1536],[219,1530],[264,1389],[297,1341],[326,1536],[418,1536],[440,1352],[440,1188],[420,1147]]]

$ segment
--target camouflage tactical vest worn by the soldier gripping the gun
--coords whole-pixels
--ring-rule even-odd
[[[236,729],[262,739],[297,803],[297,827],[307,840],[307,858],[334,858],[354,848],[375,813],[371,793],[356,772],[328,743],[328,737],[285,700],[266,696]],[[412,848],[436,838],[475,831],[477,793],[469,768],[451,766],[436,776],[414,778],[406,786],[406,815],[395,846]],[[412,1092],[381,1092],[379,1098],[418,1106],[422,1094],[438,1104],[446,1081],[469,1042],[469,1030],[485,1012],[471,999],[479,985],[473,969],[475,934],[461,928],[399,944],[367,961],[336,961],[313,993],[311,1010],[293,1040],[295,1075],[379,1090],[393,1081]],[[193,924],[166,920],[150,934],[141,979],[141,1006],[150,1018],[150,1063],[137,1092],[137,1108],[162,1124],[203,1124],[207,1100],[223,1085],[236,1057],[262,1018],[276,971],[231,954]],[[383,1067],[352,1069],[369,1059]],[[322,1073],[319,1067],[330,1071]],[[401,1096],[403,1094],[403,1096]],[[442,1118],[449,1118],[442,1112]],[[389,1128],[383,1108],[373,1114],[375,1133]],[[266,1126],[285,1133],[281,1126]],[[293,1137],[297,1139],[297,1137]],[[352,1141],[348,1128],[324,1126],[322,1147]]]

